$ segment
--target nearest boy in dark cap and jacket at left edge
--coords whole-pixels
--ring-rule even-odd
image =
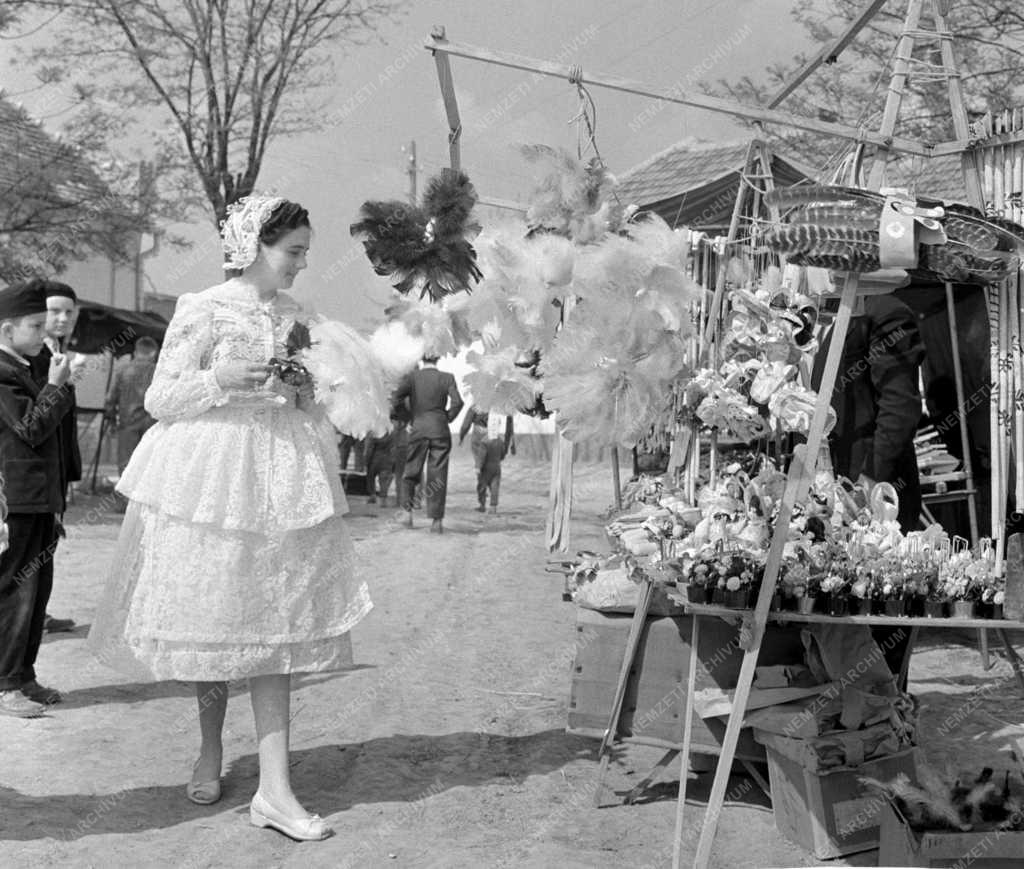
[[[0,469],[10,547],[0,556],[0,714],[34,718],[60,694],[36,681],[36,656],[53,585],[55,514],[65,509],[60,421],[74,397],[68,357],[46,384],[28,357],[43,349],[46,296],[38,281],[0,291]]]

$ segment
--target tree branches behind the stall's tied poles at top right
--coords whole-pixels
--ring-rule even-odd
[[[835,41],[863,8],[864,0],[797,0],[793,17],[815,43]],[[888,3],[833,64],[821,67],[781,108],[796,114],[877,128],[885,105],[905,2]],[[930,4],[922,21],[932,29]],[[958,0],[947,24],[970,114],[1002,110],[1021,98],[1024,66],[1024,5],[1020,0]],[[926,28],[923,28],[926,29]],[[767,103],[808,59],[769,67],[757,79],[720,82],[716,90],[744,102]],[[953,138],[946,83],[941,76],[939,44],[922,34],[915,42],[910,77],[901,106],[898,132],[923,141]],[[773,127],[771,135],[786,150],[820,165],[825,145],[840,150],[844,142],[823,142],[813,133]]]

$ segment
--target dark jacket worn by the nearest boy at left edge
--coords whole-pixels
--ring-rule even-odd
[[[75,398],[41,389],[29,367],[0,351],[0,469],[10,513],[63,513],[59,428]]]

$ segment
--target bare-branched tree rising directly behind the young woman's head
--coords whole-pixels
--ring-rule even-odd
[[[122,117],[170,119],[219,224],[251,192],[276,135],[316,127],[331,50],[359,44],[404,0],[13,0],[59,11],[41,73]],[[112,113],[108,113],[112,114]],[[116,113],[114,113],[116,114]],[[167,140],[165,139],[165,143]]]

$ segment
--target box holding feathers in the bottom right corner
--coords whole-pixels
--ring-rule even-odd
[[[1020,869],[1024,832],[918,833],[889,802],[882,812],[879,866]]]

